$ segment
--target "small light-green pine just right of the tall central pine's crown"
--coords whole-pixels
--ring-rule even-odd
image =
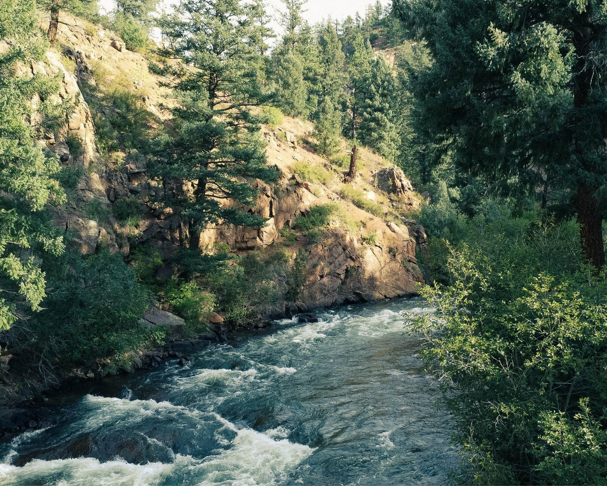
[[[292,52],[274,53],[272,66],[276,86],[274,103],[290,117],[305,117],[308,91],[299,56]]]

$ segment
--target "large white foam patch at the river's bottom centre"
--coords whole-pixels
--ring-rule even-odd
[[[202,479],[199,485],[273,485],[316,450],[286,438],[278,439],[288,435],[283,427],[260,433],[250,428],[239,429],[215,415],[237,435],[229,448],[191,467],[194,477]]]

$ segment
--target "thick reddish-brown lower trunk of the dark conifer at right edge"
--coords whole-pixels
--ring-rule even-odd
[[[582,186],[577,190],[580,242],[586,258],[597,269],[605,265],[603,247],[603,215],[600,211],[599,191],[595,187]]]

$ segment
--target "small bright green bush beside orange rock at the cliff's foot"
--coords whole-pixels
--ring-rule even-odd
[[[172,279],[164,290],[163,303],[171,306],[195,332],[208,328],[208,316],[217,306],[217,296],[197,282]]]

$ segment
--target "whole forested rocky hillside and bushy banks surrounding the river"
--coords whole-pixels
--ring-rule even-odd
[[[602,484],[603,7],[0,0],[0,404],[419,294],[454,481]]]

